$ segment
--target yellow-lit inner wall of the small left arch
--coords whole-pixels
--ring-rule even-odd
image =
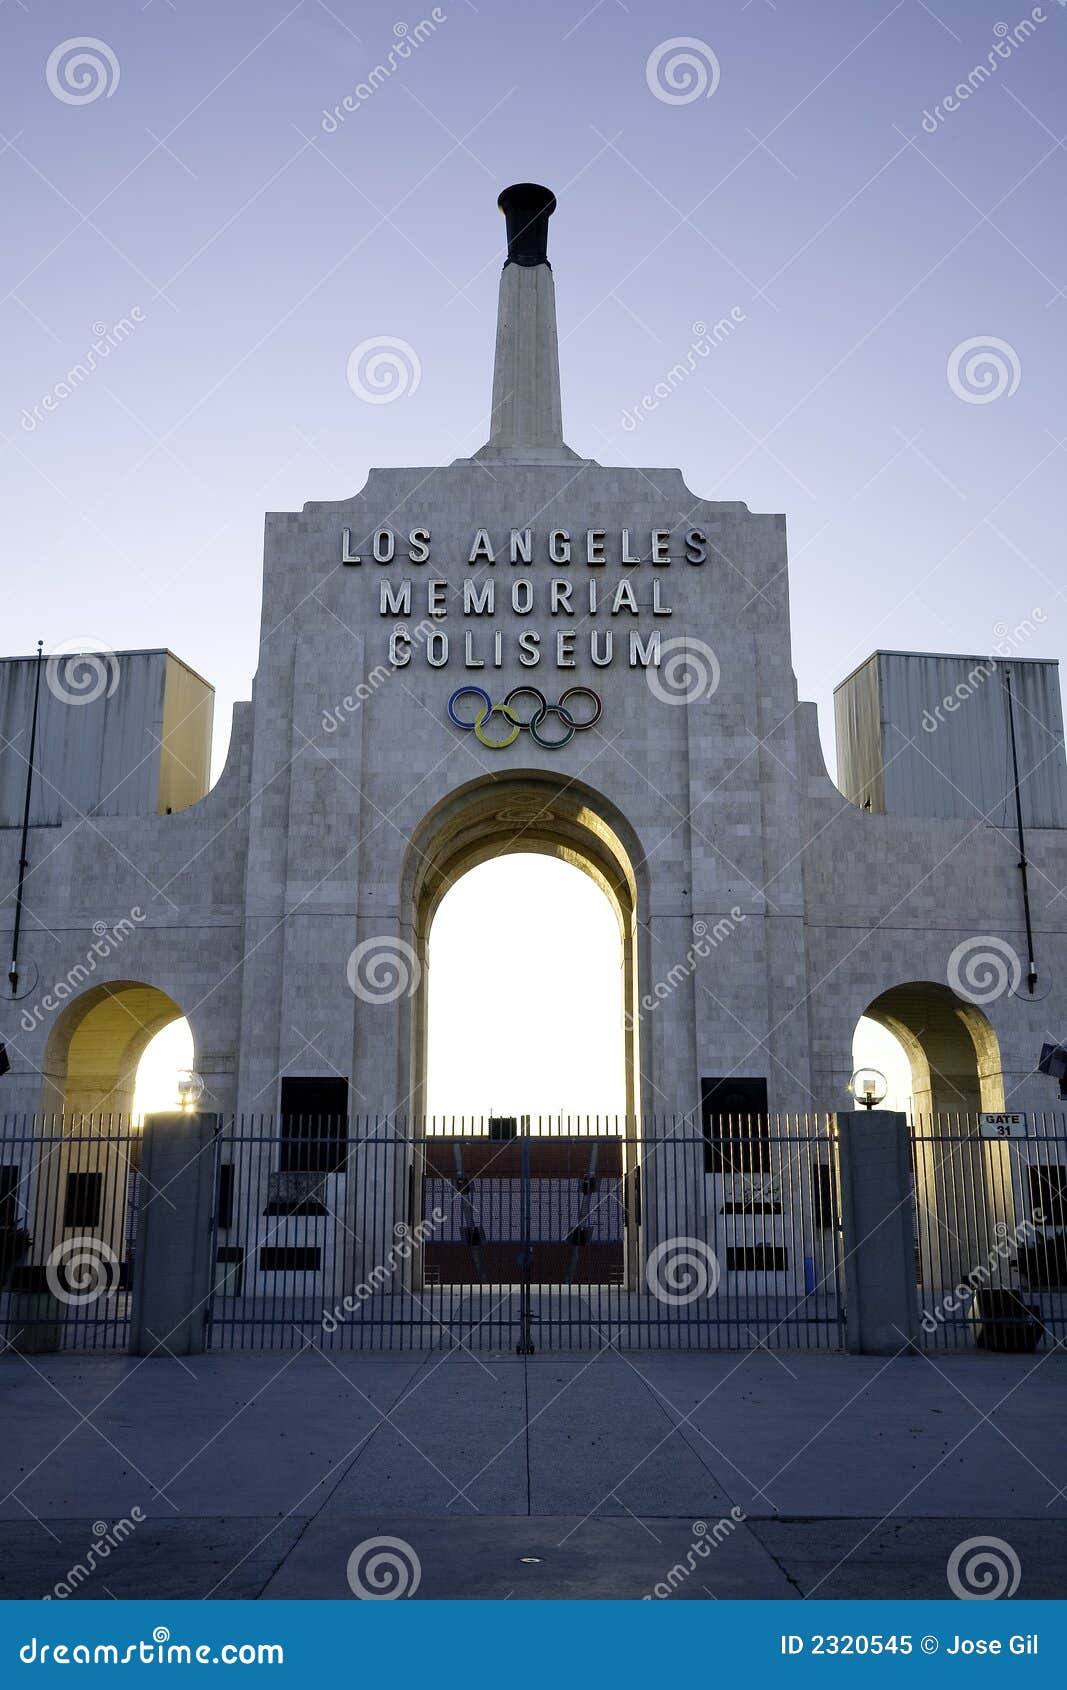
[[[140,1060],[156,1036],[183,1021],[179,1006],[156,985],[113,980],[95,985],[57,1017],[44,1053],[46,1114],[68,1120],[130,1119]]]

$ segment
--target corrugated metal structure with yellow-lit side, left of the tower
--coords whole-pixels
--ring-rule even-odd
[[[0,659],[0,826],[19,826],[36,657]],[[215,688],[169,651],[61,652],[41,664],[30,825],[154,816],[205,796]]]

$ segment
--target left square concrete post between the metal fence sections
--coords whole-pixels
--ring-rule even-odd
[[[211,1291],[218,1115],[145,1115],[134,1254],[134,1355],[198,1355]]]

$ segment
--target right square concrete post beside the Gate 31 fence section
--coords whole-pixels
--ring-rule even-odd
[[[918,1342],[908,1117],[859,1109],[837,1117],[837,1134],[847,1345],[896,1355]]]

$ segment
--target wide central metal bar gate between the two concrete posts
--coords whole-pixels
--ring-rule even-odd
[[[832,1117],[242,1117],[213,1349],[844,1347]]]

